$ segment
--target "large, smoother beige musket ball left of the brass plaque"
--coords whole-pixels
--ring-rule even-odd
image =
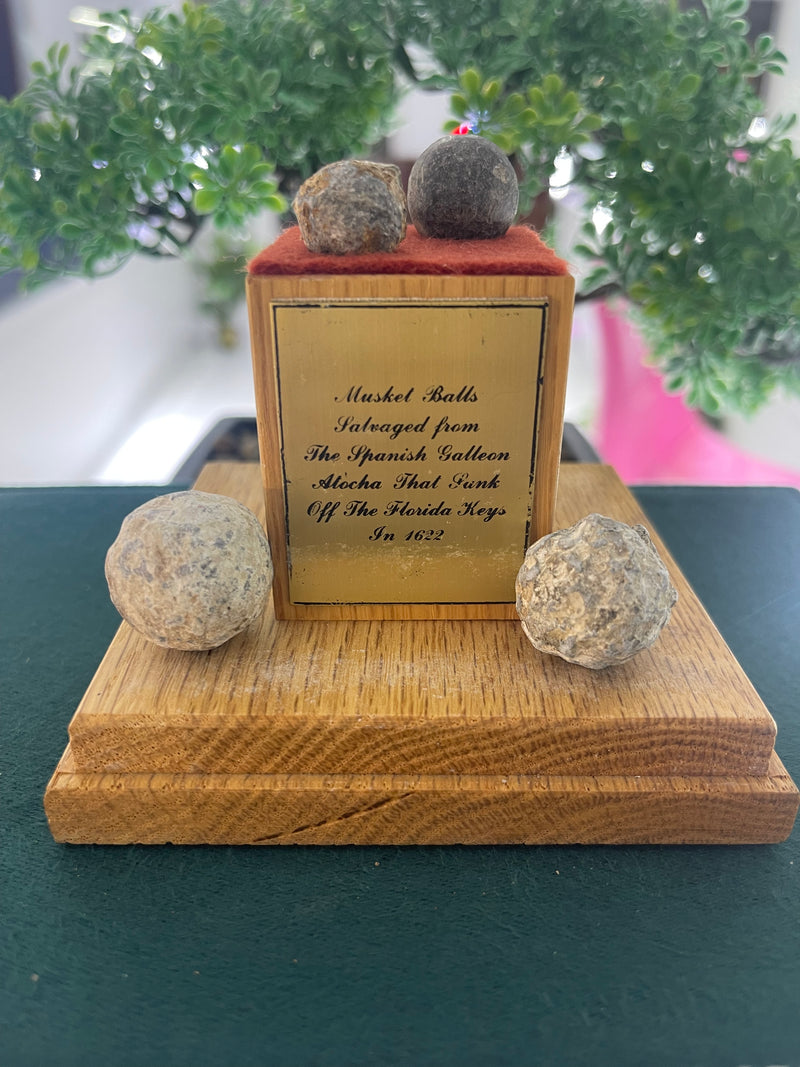
[[[114,606],[167,649],[214,649],[263,611],[272,558],[261,524],[228,496],[190,490],[131,511],[106,556]]]

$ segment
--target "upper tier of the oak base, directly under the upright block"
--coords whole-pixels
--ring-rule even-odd
[[[197,482],[262,516],[258,468]],[[558,524],[644,521],[609,467],[565,465]],[[678,603],[658,642],[592,671],[518,622],[276,621],[220,649],[123,623],[69,727],[82,770],[763,775],[775,727],[663,545]]]

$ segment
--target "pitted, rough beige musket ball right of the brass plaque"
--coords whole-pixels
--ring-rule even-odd
[[[516,579],[531,644],[594,669],[650,648],[676,600],[646,529],[597,514],[531,545]]]

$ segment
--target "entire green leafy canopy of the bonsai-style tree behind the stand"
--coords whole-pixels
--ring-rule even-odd
[[[668,387],[717,414],[800,391],[800,160],[753,91],[785,58],[748,0],[221,0],[98,16],[0,100],[0,270],[97,274],[204,219],[281,210],[365,152],[404,84],[583,191],[585,294],[636,308]]]

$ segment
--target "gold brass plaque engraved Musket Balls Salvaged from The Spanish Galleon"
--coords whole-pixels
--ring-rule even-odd
[[[272,305],[292,603],[514,600],[546,312]]]

